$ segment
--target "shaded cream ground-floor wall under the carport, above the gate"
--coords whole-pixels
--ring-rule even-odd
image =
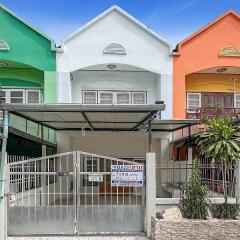
[[[161,139],[170,138],[171,134],[153,133],[153,151],[157,153],[158,161],[167,155],[168,146],[161,147]],[[148,152],[147,132],[89,132],[58,131],[58,152],[85,151],[110,157],[144,157]],[[161,154],[162,151],[162,154]]]

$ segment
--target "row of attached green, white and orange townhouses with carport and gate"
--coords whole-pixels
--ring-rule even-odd
[[[227,12],[174,50],[118,6],[59,47],[4,6],[0,20],[8,234],[149,235],[152,214],[177,205],[190,177],[197,119],[238,114],[239,15]],[[136,185],[116,184],[121,169]],[[222,180],[207,180],[223,201]]]

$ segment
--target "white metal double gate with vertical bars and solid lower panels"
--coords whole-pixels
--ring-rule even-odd
[[[9,163],[8,233],[143,231],[145,184],[113,186],[113,165],[144,169],[81,151]]]

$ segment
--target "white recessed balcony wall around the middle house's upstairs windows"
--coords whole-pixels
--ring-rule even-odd
[[[72,102],[82,102],[82,90],[147,91],[147,103],[158,99],[159,75],[151,72],[77,71],[73,73]],[[160,98],[158,99],[160,100]]]

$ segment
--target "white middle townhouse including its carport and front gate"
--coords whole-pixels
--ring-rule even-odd
[[[57,49],[57,104],[2,95],[0,240],[7,234],[150,236],[151,217],[178,205],[191,176],[191,135],[199,123],[173,119],[172,72],[170,44],[113,6]],[[209,179],[215,167],[208,164],[204,159],[212,169],[202,176],[211,187],[217,181],[209,197],[221,203],[222,179]],[[236,172],[231,183],[239,197],[239,167]],[[234,197],[235,190],[228,200]]]

